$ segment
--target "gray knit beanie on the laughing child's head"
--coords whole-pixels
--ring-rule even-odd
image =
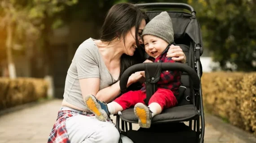
[[[172,19],[167,12],[162,12],[155,16],[145,26],[142,31],[142,37],[144,35],[153,35],[168,42],[168,44],[174,41]]]

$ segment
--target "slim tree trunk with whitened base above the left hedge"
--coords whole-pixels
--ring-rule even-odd
[[[15,64],[13,63],[13,56],[12,56],[12,45],[13,45],[12,25],[9,23],[6,29],[7,29],[6,51],[7,51],[9,77],[11,79],[14,79],[16,78],[16,69],[15,69]]]

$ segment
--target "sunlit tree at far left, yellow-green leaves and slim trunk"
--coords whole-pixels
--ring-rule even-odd
[[[24,48],[29,56],[44,29],[46,16],[53,16],[64,9],[64,5],[77,0],[1,0],[0,25],[6,30],[6,51],[10,78],[16,77],[13,64],[13,47]]]

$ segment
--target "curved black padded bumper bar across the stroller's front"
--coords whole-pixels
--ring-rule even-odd
[[[145,64],[161,64],[161,71],[165,70],[179,70],[179,71],[185,71],[189,74],[193,81],[193,87],[195,90],[200,89],[200,80],[197,73],[194,71],[193,68],[189,67],[188,65],[184,63],[138,63],[136,65],[133,65],[131,67],[128,67],[123,73],[123,75],[120,78],[120,89],[121,92],[125,92],[127,88],[127,82],[129,79],[129,76],[131,76],[133,73],[137,71],[145,71]]]

